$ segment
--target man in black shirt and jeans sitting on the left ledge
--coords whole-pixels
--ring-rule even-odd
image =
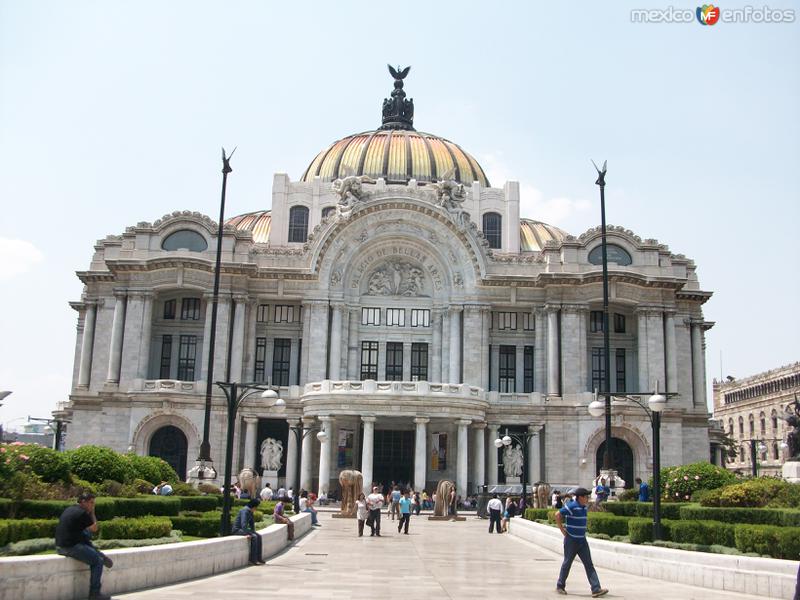
[[[84,492],[78,496],[77,504],[61,513],[56,527],[56,549],[59,554],[89,565],[89,599],[107,600],[111,596],[100,592],[100,580],[103,577],[103,566],[110,569],[114,563],[92,544],[92,533],[97,532],[94,499],[94,494]]]

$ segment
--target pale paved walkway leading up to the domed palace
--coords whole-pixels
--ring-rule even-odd
[[[409,535],[383,517],[383,536],[357,537],[356,522],[320,513],[322,528],[265,566],[115,596],[129,600],[204,598],[561,598],[555,581],[561,556],[510,535],[489,535],[488,521],[428,521],[412,517]],[[394,526],[393,526],[394,525]],[[591,543],[591,542],[590,542]],[[607,598],[641,600],[746,598],[687,585],[598,569]],[[567,580],[571,596],[590,597],[576,559]]]

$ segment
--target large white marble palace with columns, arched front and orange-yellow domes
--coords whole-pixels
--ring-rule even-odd
[[[601,228],[521,218],[518,182],[488,181],[456,142],[415,129],[436,124],[414,122],[408,74],[392,69],[382,115],[375,90],[365,122],[377,129],[310,152],[296,180],[275,174],[271,208],[226,217],[221,240],[212,215],[179,206],[96,242],[72,303],[67,447],[162,456],[183,478],[221,482],[228,410],[207,386],[211,366],[213,382],[279,398],[239,406],[234,479],[249,467],[273,486],[335,493],[339,473],[358,469],[365,485],[430,491],[448,479],[465,497],[519,483],[494,443],[506,432],[532,434],[528,482],[596,477],[605,428],[587,406],[605,374]],[[664,466],[708,460],[713,325],[695,263],[667,242],[607,227],[611,391],[667,392]],[[615,410],[611,434],[620,477],[647,480],[644,411]]]

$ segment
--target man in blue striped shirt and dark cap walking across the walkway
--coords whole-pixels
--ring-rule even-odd
[[[566,595],[567,577],[575,556],[579,556],[586,569],[589,585],[592,586],[592,598],[605,596],[608,590],[600,587],[600,579],[592,564],[592,553],[586,541],[586,505],[589,504],[589,490],[578,488],[574,492],[575,499],[567,502],[557,513],[556,523],[564,535],[564,562],[556,583],[556,592]]]

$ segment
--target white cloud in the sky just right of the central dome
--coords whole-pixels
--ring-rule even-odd
[[[518,177],[510,175],[510,170],[503,163],[502,157],[496,154],[482,155],[481,165],[494,186],[500,187],[506,181],[519,181]],[[591,203],[587,200],[566,196],[546,198],[540,189],[522,182],[519,185],[519,205],[521,217],[536,219],[551,225],[561,225],[591,208]]]

